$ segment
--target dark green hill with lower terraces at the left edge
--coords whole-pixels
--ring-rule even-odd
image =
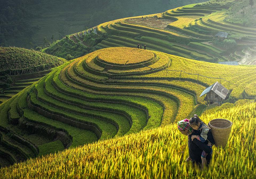
[[[65,59],[25,48],[0,47],[0,103],[65,61]]]

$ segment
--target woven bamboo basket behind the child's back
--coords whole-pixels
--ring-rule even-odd
[[[226,147],[232,124],[227,119],[213,119],[209,122],[209,127],[211,128],[211,133],[213,134],[213,139],[217,147]]]

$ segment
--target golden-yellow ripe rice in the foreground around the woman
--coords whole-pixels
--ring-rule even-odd
[[[256,178],[256,103],[211,109],[201,119],[233,122],[225,149],[214,147],[208,170],[186,163],[187,137],[175,123],[0,169],[0,178]]]

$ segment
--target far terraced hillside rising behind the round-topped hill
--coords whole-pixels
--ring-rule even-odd
[[[79,57],[100,48],[146,44],[149,50],[200,61],[256,64],[256,27],[231,24],[225,21],[228,7],[212,6],[193,4],[106,22],[66,36],[44,52]],[[225,40],[215,36],[219,31],[229,34]]]

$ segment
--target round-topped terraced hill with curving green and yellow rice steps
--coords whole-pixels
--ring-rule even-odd
[[[134,58],[138,55],[143,58]],[[255,67],[128,47],[66,62],[0,106],[1,166],[166,126],[202,111],[199,95],[218,79],[216,68],[232,90],[230,99],[256,96]]]

